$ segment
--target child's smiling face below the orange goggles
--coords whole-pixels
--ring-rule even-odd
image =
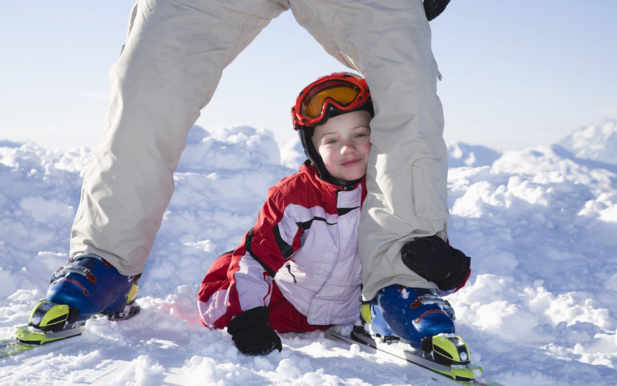
[[[368,152],[371,149],[366,111],[352,111],[330,118],[315,126],[311,140],[332,177],[342,184],[358,180],[366,174]]]

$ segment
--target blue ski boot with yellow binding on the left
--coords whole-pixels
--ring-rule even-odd
[[[15,338],[42,345],[80,335],[95,314],[129,319],[139,313],[139,276],[120,274],[96,254],[75,256],[51,276],[45,298],[36,304],[28,325],[17,327]]]

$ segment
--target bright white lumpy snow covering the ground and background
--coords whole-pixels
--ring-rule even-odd
[[[282,153],[282,154],[281,154]],[[617,384],[617,125],[503,154],[450,144],[450,241],[472,257],[448,296],[473,362],[507,385]],[[0,335],[9,337],[68,259],[91,151],[0,142]],[[281,163],[281,159],[283,160]],[[194,127],[141,279],[141,313],[0,359],[0,384],[436,385],[323,332],[238,354],[199,322],[197,287],[255,222],[267,188],[304,159],[248,126]]]

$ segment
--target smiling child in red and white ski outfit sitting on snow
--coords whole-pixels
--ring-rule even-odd
[[[333,73],[292,107],[307,160],[270,190],[257,223],[216,259],[199,290],[201,320],[228,327],[238,350],[281,350],[276,331],[326,330],[358,320],[358,219],[373,117],[363,78]]]

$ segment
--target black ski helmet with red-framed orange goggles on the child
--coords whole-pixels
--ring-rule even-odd
[[[294,130],[298,132],[304,153],[317,168],[321,179],[336,185],[340,183],[329,174],[311,137],[315,126],[352,111],[368,111],[371,118],[375,115],[366,80],[350,72],[334,72],[317,78],[300,91],[296,104],[291,107]]]

